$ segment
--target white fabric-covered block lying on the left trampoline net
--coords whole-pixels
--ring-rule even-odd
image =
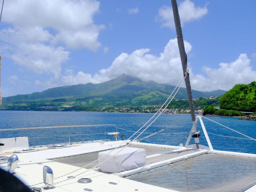
[[[116,154],[117,152],[119,153]],[[116,155],[113,156],[114,154]],[[110,156],[113,157],[110,158]],[[106,162],[100,164],[100,170],[103,172],[119,173],[142,167],[146,164],[146,151],[140,148],[126,147],[112,151],[102,151],[99,152],[98,157],[99,164],[110,158]]]

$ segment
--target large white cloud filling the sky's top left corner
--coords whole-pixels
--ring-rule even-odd
[[[12,0],[4,6],[2,21],[12,24],[14,30],[29,28],[28,34],[36,36],[39,28],[50,28],[52,42],[56,44],[93,51],[100,46],[98,35],[104,26],[93,22],[100,6],[96,0]]]

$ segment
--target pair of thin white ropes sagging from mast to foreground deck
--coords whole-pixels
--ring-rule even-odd
[[[174,93],[174,91],[176,90],[176,88],[178,87],[178,85],[180,84],[179,87],[178,87],[178,89],[176,90],[174,96],[172,97],[172,99],[176,96],[176,94],[177,94],[178,90],[180,89],[182,83],[184,82],[185,78],[186,78],[186,76],[184,76],[184,77],[182,77],[182,78],[180,79],[180,81],[183,79],[182,82],[181,82],[181,83],[180,83],[180,81],[178,82],[178,84],[176,85],[176,87],[174,88],[174,90],[172,91],[172,93],[170,94],[170,96],[167,98],[167,100],[164,102],[164,104],[161,106],[161,108],[160,108],[160,109],[159,109],[159,110],[141,127],[141,128],[139,128],[139,129],[138,129],[134,134],[132,134],[132,136],[130,136],[127,140],[125,140],[124,142],[122,142],[122,143],[121,143],[119,146],[117,146],[116,148],[110,150],[110,152],[107,153],[107,154],[105,154],[104,156],[107,156],[107,155],[110,154],[112,151],[116,150],[117,148],[119,148],[119,147],[122,146],[123,144],[127,143],[128,140],[130,140],[130,139],[131,139],[134,135],[136,135],[144,126],[146,126],[146,124],[148,124],[148,122],[150,122],[150,120],[152,120],[152,118],[154,118],[154,116],[156,116],[156,114],[158,114],[158,112],[164,107],[164,105],[168,102],[168,100],[170,99],[170,97],[172,96],[172,94]],[[171,100],[168,102],[168,104],[165,106],[164,110],[165,110],[165,109],[167,108],[167,106],[170,104],[170,102],[172,101],[172,99],[171,99]],[[150,125],[152,125],[152,123],[154,123],[154,122],[156,121],[156,119],[162,114],[162,112],[164,112],[164,110],[162,110],[162,111],[160,112],[160,114],[159,114],[146,128],[144,128],[144,130],[143,130],[142,132],[140,132],[140,134],[139,134],[138,136],[136,136],[132,141],[136,140],[145,130],[147,130],[147,128],[148,128]],[[132,142],[132,141],[131,141],[131,142]],[[121,148],[121,149],[120,149],[118,152],[116,152],[114,155],[110,156],[109,158],[107,158],[106,160],[104,160],[103,162],[101,162],[100,164],[95,165],[95,166],[92,167],[91,169],[96,168],[97,166],[99,166],[99,165],[103,164],[104,162],[108,161],[110,158],[116,156],[116,154],[118,154],[118,153],[120,153],[122,150],[124,150],[124,148],[126,148],[129,144],[130,144],[130,143],[125,144],[124,147]],[[68,174],[72,174],[72,173],[74,173],[74,172],[76,172],[76,171],[78,171],[78,170],[81,170],[82,168],[85,168],[86,166],[89,166],[89,165],[91,165],[92,163],[94,163],[94,162],[96,162],[96,161],[102,159],[104,156],[102,156],[101,158],[99,158],[99,159],[97,159],[97,160],[95,160],[95,161],[93,161],[93,162],[91,162],[91,163],[89,163],[89,164],[86,164],[85,166],[83,166],[83,167],[81,167],[81,168],[79,168],[79,169],[77,169],[77,170],[74,170],[74,171],[69,172],[69,173],[67,173],[67,174],[64,174],[64,175],[62,175],[62,176],[59,176],[59,177],[57,177],[57,178],[55,178],[55,179],[61,178],[61,177],[66,176],[66,175],[68,175]],[[91,169],[88,169],[88,170],[86,170],[86,171],[84,171],[84,172],[82,172],[82,173],[76,174],[76,175],[74,175],[74,177],[79,176],[79,175],[81,175],[81,174],[84,174],[85,172],[88,172],[88,171],[91,170]],[[66,180],[70,180],[70,179],[68,178],[68,179],[62,180],[62,181],[60,181],[60,182],[56,182],[56,183],[54,183],[54,185],[59,184],[59,183],[61,183],[61,182],[64,182],[64,181],[66,181]],[[42,184],[42,182],[41,182],[41,183],[38,183],[38,184]],[[35,185],[38,185],[38,184],[34,184],[34,185],[31,185],[31,186],[35,186]]]

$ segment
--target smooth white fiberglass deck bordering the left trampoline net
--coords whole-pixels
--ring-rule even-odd
[[[104,189],[106,192],[130,192],[137,190],[140,192],[148,192],[149,190],[159,192],[174,191],[42,158],[42,156],[46,156],[47,158],[56,158],[57,156],[63,156],[63,154],[78,155],[81,154],[81,151],[93,152],[97,150],[104,150],[106,148],[116,147],[121,143],[121,141],[105,142],[104,144],[90,143],[81,144],[79,146],[70,148],[47,149],[39,150],[37,152],[17,154],[20,161],[18,162],[18,168],[16,169],[16,173],[14,175],[20,178],[20,180],[22,180],[28,186],[37,184],[35,186],[42,187],[44,186],[42,183],[42,169],[44,165],[49,166],[52,168],[55,178],[55,188],[47,190],[49,192],[84,192],[86,191],[85,189],[88,191],[92,190],[93,192],[102,192],[102,189]],[[10,156],[10,154],[8,156]],[[0,164],[0,167],[6,170],[7,163]],[[68,174],[70,172],[73,173]],[[76,178],[68,178],[69,176],[74,176],[77,174],[80,175],[76,176]],[[91,178],[92,182],[88,184],[80,184],[77,182],[79,178],[85,177]]]

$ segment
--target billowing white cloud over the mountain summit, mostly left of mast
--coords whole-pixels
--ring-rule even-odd
[[[187,52],[192,49],[191,44],[185,43]],[[180,54],[176,39],[171,39],[159,56],[149,54],[150,49],[135,50],[131,54],[122,53],[109,68],[102,69],[93,76],[88,73],[78,72],[64,76],[62,80],[66,84],[75,83],[100,83],[111,78],[127,74],[141,78],[142,80],[154,80],[158,83],[176,83],[182,76]],[[166,78],[168,77],[168,78]]]

